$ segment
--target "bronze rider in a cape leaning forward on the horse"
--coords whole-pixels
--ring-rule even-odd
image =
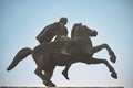
[[[68,29],[65,28],[65,24],[68,23],[66,18],[61,18],[59,22],[54,22],[43,29],[43,31],[37,36],[37,40],[42,43],[50,43],[51,40],[55,37],[55,41],[66,40],[68,36]],[[61,50],[61,54],[70,55],[68,53],[69,43],[64,43],[63,48]]]

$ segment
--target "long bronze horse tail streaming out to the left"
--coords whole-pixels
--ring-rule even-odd
[[[24,47],[24,48],[20,50],[17,53],[17,55],[14,56],[14,58],[11,62],[11,64],[9,65],[9,67],[7,68],[7,70],[11,70],[12,68],[14,68],[20,61],[24,59],[31,53],[32,53],[32,50],[28,48],[28,47]]]

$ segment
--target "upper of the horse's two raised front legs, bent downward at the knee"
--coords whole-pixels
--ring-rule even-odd
[[[101,45],[98,45],[98,46],[93,46],[91,48],[91,53],[96,53],[96,52],[99,52],[99,51],[101,51],[103,48],[106,48],[106,51],[108,51],[108,53],[110,55],[111,62],[115,63],[116,62],[116,56],[115,56],[114,52],[111,50],[111,47],[105,43],[101,44]]]

